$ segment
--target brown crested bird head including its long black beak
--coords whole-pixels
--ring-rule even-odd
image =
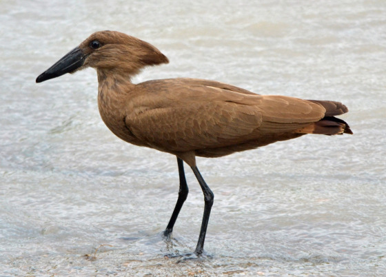
[[[168,62],[157,48],[141,39],[115,31],[94,32],[40,74],[36,81],[41,83],[88,67],[101,72],[119,72],[130,78],[147,65]]]

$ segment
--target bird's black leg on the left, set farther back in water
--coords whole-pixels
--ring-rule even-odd
[[[176,207],[174,207],[174,211],[172,217],[169,220],[169,224],[163,232],[163,235],[167,238],[170,237],[170,234],[173,232],[174,223],[176,223],[176,219],[179,216],[179,212],[181,211],[181,207],[187,198],[187,194],[189,193],[189,189],[187,187],[185,172],[183,170],[183,161],[181,158],[177,157],[177,163],[179,165],[179,176],[180,176],[180,189],[179,189],[179,198],[177,199]]]

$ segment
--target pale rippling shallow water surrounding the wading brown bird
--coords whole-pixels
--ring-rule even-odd
[[[382,276],[386,272],[385,1],[0,1],[0,275]],[[34,79],[96,30],[156,45],[170,64],[134,81],[194,77],[261,94],[342,101],[353,136],[303,136],[198,158],[203,196],[172,241],[174,156],[103,125],[96,74]]]

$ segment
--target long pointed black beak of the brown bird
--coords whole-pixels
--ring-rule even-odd
[[[81,48],[77,47],[68,52],[57,63],[52,65],[48,70],[45,70],[37,77],[36,82],[41,83],[43,81],[59,77],[65,73],[74,72],[77,68],[80,68],[88,54],[83,54]]]

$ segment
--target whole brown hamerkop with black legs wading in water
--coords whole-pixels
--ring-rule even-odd
[[[196,166],[196,156],[225,156],[304,134],[352,134],[345,121],[334,117],[348,111],[335,101],[259,95],[201,79],[132,83],[142,68],[168,62],[150,43],[121,32],[95,32],[36,81],[95,68],[105,125],[123,141],[176,155],[179,197],[165,229],[167,237],[187,198],[183,161],[192,167],[205,200],[196,255],[203,253],[214,200]]]

